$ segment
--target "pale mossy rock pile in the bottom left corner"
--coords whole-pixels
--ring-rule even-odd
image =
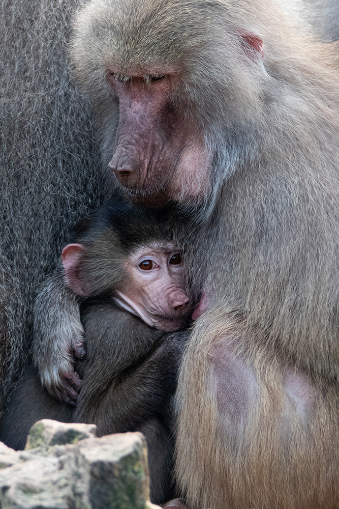
[[[146,443],[141,433],[96,438],[94,431],[90,425],[44,419],[32,427],[27,450],[14,451],[0,442],[4,465],[0,507],[159,509],[148,500]],[[83,435],[89,438],[80,439]],[[37,447],[32,449],[34,444]]]

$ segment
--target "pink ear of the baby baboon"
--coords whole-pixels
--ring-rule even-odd
[[[88,289],[84,287],[83,282],[79,278],[80,260],[85,250],[86,248],[82,244],[67,244],[61,252],[61,261],[65,270],[67,286],[81,297],[89,295]]]

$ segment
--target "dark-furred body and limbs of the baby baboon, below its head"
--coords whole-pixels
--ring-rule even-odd
[[[98,436],[141,431],[147,442],[150,496],[175,496],[172,397],[188,332],[164,333],[117,308],[111,300],[83,304],[87,356],[75,368],[83,378],[76,409],[42,388],[33,366],[14,390],[2,417],[0,440],[23,449],[40,419],[95,423]]]

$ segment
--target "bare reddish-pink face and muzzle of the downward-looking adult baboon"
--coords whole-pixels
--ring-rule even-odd
[[[107,79],[119,100],[115,152],[109,167],[133,200],[161,206],[184,193],[206,192],[210,158],[198,126],[175,101],[178,73],[132,75],[110,69]]]

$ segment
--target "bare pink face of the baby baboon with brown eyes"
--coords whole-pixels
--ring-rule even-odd
[[[158,330],[184,327],[192,309],[178,250],[171,244],[141,247],[124,269],[127,283],[116,289],[120,305]]]

